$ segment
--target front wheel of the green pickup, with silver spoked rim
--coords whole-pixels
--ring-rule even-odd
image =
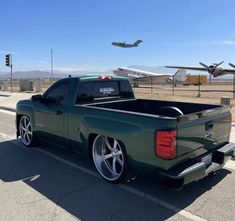
[[[33,127],[30,118],[22,116],[19,123],[20,140],[26,147],[36,145],[36,138],[33,134]]]

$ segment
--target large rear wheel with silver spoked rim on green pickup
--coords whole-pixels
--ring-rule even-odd
[[[92,158],[97,171],[108,182],[119,183],[126,180],[126,151],[115,138],[98,135],[93,142]]]

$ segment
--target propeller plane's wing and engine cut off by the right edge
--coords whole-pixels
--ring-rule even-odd
[[[165,66],[165,67],[166,68],[195,70],[195,71],[207,71],[213,77],[218,77],[218,76],[222,76],[222,75],[226,75],[226,74],[235,74],[234,69],[224,69],[224,68],[219,67],[223,63],[224,62],[222,61],[218,64],[214,63],[214,64],[208,66],[202,62],[199,62],[199,64],[202,67],[187,67],[187,66]],[[235,66],[233,64],[229,63],[229,65],[231,67],[235,68]]]

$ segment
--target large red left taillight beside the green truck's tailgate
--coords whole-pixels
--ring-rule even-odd
[[[176,157],[176,130],[157,131],[155,139],[157,156],[166,160]]]

